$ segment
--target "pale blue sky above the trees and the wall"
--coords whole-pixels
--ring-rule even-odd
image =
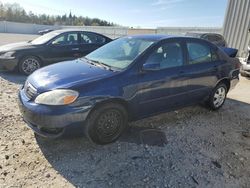
[[[0,0],[35,14],[97,17],[123,26],[221,27],[227,0]]]

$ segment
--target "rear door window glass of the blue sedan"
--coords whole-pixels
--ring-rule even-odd
[[[202,43],[188,42],[189,64],[205,63],[212,61],[211,50],[208,45]]]

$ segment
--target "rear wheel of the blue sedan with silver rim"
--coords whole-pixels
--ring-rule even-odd
[[[224,83],[219,83],[212,91],[208,99],[208,107],[211,110],[220,109],[227,97],[227,86]]]

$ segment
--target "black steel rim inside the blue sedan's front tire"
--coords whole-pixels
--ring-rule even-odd
[[[100,139],[112,139],[120,134],[122,115],[112,109],[101,114],[97,120],[96,133]]]

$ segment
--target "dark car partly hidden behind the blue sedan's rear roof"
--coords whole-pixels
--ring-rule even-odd
[[[209,42],[212,42],[213,44],[219,46],[219,47],[227,47],[227,42],[224,39],[224,37],[217,33],[195,33],[195,32],[188,32],[186,33],[186,36],[195,37],[207,40]]]

